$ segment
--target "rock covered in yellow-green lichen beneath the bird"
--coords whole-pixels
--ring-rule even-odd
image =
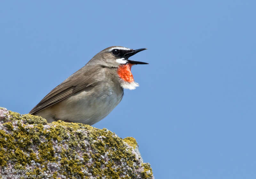
[[[132,137],[80,123],[47,123],[6,108],[0,108],[0,172],[49,179],[154,178]]]

